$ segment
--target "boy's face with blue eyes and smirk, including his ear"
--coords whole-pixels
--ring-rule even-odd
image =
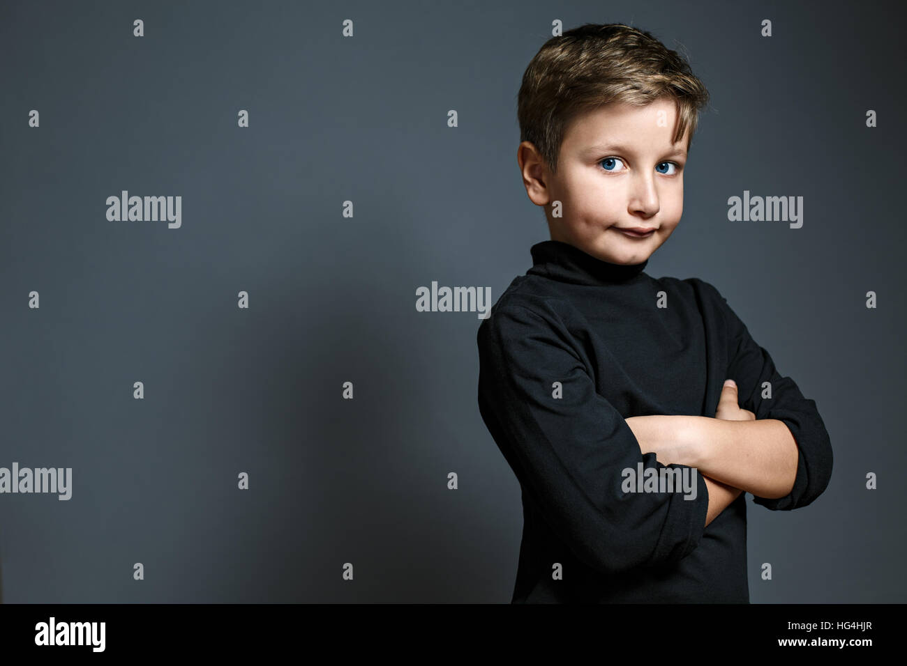
[[[529,141],[517,159],[532,203],[545,206],[551,239],[613,264],[639,264],[668,240],[683,213],[688,136],[671,143],[672,100],[609,104],[567,127],[552,175]],[[562,217],[551,217],[551,202]],[[651,229],[644,236],[621,229]]]

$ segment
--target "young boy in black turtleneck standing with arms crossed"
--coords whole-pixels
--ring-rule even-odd
[[[745,493],[790,510],[828,485],[815,402],[724,297],[643,272],[707,99],[621,24],[552,38],[523,75],[517,160],[551,240],[477,334],[479,408],[522,487],[512,603],[748,603]]]

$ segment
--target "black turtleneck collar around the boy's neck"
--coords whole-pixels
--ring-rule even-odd
[[[649,263],[611,264],[560,240],[544,240],[530,248],[532,268],[527,275],[544,275],[575,285],[613,285],[638,277]]]

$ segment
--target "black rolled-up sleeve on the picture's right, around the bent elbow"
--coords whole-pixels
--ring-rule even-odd
[[[753,501],[773,511],[805,507],[823,493],[832,476],[832,445],[822,417],[815,401],[807,400],[790,377],[775,369],[772,357],[753,340],[727,299],[709,286],[717,294],[717,305],[725,315],[727,377],[736,381],[740,406],[756,414],[757,420],[783,421],[797,444],[796,479],[791,492],[776,499],[754,496]],[[770,399],[762,397],[766,382],[771,386]]]

